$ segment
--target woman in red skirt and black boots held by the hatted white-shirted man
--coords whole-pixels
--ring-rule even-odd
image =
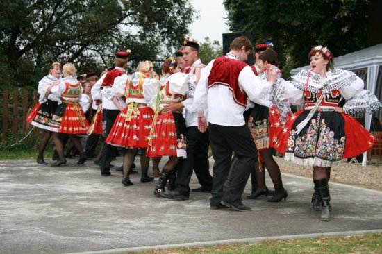
[[[188,92],[186,81],[188,74],[183,74],[180,71],[178,62],[174,58],[168,58],[163,64],[163,76],[160,78],[160,87],[156,98],[156,113],[151,126],[147,149],[147,156],[150,158],[169,156],[154,189],[154,195],[160,198],[172,198],[165,192],[165,184],[181,158],[186,157],[186,128],[185,119],[182,115],[183,108],[175,112],[163,110],[163,105],[170,101],[178,102],[185,99],[185,94]]]

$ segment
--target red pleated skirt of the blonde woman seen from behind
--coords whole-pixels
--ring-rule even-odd
[[[139,115],[131,115],[126,120],[128,108],[122,110],[115,119],[106,143],[125,148],[145,148],[148,146],[150,128],[153,122],[153,110],[149,107],[138,108]]]

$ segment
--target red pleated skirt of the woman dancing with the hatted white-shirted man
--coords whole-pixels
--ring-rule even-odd
[[[152,128],[147,157],[177,156],[178,141],[176,138],[175,119],[172,112],[159,114],[155,121],[153,121]]]

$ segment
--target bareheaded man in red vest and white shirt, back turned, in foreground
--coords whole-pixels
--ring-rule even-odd
[[[258,153],[245,124],[243,112],[247,101],[258,101],[276,81],[278,70],[269,66],[267,80],[260,80],[244,61],[252,51],[251,41],[240,36],[230,45],[226,56],[212,60],[202,69],[192,107],[198,111],[198,124],[206,130],[204,109],[208,108],[210,144],[215,164],[211,209],[251,210],[242,203],[242,193]],[[238,157],[230,172],[232,153]]]

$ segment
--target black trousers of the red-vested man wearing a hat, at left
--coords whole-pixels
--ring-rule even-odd
[[[108,138],[111,128],[113,128],[113,124],[115,119],[119,114],[119,110],[107,110],[103,109],[103,114],[106,117],[106,130],[105,130],[105,140]],[[115,146],[110,144],[106,144],[103,142],[102,146],[102,155],[101,155],[101,173],[107,173],[110,171],[110,162],[115,156]]]

